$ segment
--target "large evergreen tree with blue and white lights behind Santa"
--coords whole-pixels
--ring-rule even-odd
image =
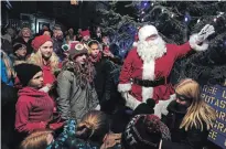
[[[186,42],[205,24],[212,24],[216,33],[208,38],[208,50],[179,60],[171,82],[191,77],[206,84],[211,79],[219,83],[226,78],[226,2],[132,1],[123,3],[123,11],[130,9],[129,15],[118,11],[120,4],[122,2],[111,2],[109,10],[100,10],[104,14],[101,26],[110,33],[111,43],[119,45],[119,53],[132,47],[137,29],[143,24],[153,24],[165,42],[176,44]]]

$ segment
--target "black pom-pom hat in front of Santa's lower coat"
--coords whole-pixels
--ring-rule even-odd
[[[146,103],[140,104],[132,113],[132,115],[140,114],[154,114],[155,100],[152,98],[147,99]]]

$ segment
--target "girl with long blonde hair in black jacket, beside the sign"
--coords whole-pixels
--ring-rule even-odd
[[[206,146],[216,113],[200,96],[200,85],[184,79],[175,88],[176,100],[168,106],[163,118],[171,131],[171,141],[163,140],[162,149],[202,149]]]

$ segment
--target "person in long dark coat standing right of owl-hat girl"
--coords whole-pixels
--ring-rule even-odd
[[[104,56],[98,41],[92,40],[88,42],[88,46],[89,60],[96,70],[94,82],[101,110],[112,114],[116,105],[121,100],[119,99],[120,94],[117,92],[117,85],[114,83],[112,77],[115,64],[108,57]]]

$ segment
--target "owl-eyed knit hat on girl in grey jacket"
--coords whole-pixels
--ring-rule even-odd
[[[69,50],[69,60],[74,60],[80,54],[88,54],[88,50],[82,43],[77,43],[74,49]]]

